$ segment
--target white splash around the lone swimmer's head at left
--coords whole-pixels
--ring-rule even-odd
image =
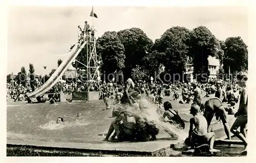
[[[40,125],[39,128],[42,129],[47,129],[47,130],[59,130],[65,127],[72,127],[72,126],[86,126],[89,125],[89,122],[85,122],[85,121],[73,121],[73,122],[63,122],[63,123],[59,123],[56,124],[56,121],[51,120],[50,122],[48,122],[45,125]]]

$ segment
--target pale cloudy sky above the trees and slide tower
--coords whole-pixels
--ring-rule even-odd
[[[33,63],[35,74],[49,73],[65,60],[78,38],[78,25],[93,24],[92,7],[12,7],[8,12],[7,73]],[[246,7],[94,7],[96,37],[137,27],[153,41],[169,28],[207,27],[217,39],[240,36],[248,44]],[[44,71],[43,66],[47,69]]]

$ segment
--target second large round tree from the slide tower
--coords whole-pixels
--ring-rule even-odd
[[[143,66],[142,58],[150,52],[153,41],[139,28],[121,30],[117,35],[125,49],[125,68]]]

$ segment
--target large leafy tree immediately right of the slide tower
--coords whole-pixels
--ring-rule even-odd
[[[105,32],[97,39],[96,47],[98,55],[101,56],[102,59],[101,71],[104,72],[105,75],[120,71],[124,68],[124,46],[116,32]]]

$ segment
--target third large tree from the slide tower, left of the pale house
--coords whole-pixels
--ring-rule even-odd
[[[161,61],[170,74],[179,74],[185,71],[188,54],[189,30],[184,27],[172,27],[166,30],[154,44],[155,50],[161,53]],[[178,76],[177,76],[178,77]]]

